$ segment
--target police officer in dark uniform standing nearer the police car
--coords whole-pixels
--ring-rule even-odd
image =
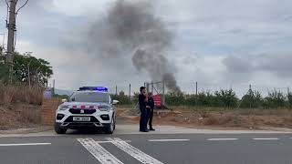
[[[139,95],[139,108],[141,112],[140,117],[140,131],[148,132],[147,129],[147,106],[148,98],[146,95],[146,87],[140,87],[140,95]]]

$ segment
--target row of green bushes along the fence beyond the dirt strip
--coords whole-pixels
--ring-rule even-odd
[[[120,105],[136,105],[138,93],[134,97],[124,95],[120,92],[119,95],[113,97],[120,101]],[[179,94],[175,95],[168,93],[165,95],[165,103],[168,107],[177,108],[203,108],[203,109],[238,109],[238,108],[257,108],[257,109],[279,109],[292,108],[292,93],[284,94],[280,91],[273,90],[263,97],[256,90],[249,90],[248,93],[239,98],[233,89],[221,89],[219,91],[200,92],[195,94]]]

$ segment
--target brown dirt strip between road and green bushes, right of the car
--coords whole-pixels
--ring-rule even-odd
[[[139,123],[137,111],[119,108],[119,117],[130,123]],[[292,111],[241,109],[233,111],[190,111],[184,109],[155,112],[155,125],[174,125],[188,128],[212,129],[266,129],[292,128]]]

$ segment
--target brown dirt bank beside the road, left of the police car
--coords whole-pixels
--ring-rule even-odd
[[[34,128],[40,124],[40,106],[16,103],[0,106],[0,130]]]

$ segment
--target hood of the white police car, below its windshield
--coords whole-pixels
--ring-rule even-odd
[[[62,105],[68,108],[110,108],[110,104],[105,102],[65,102]]]

